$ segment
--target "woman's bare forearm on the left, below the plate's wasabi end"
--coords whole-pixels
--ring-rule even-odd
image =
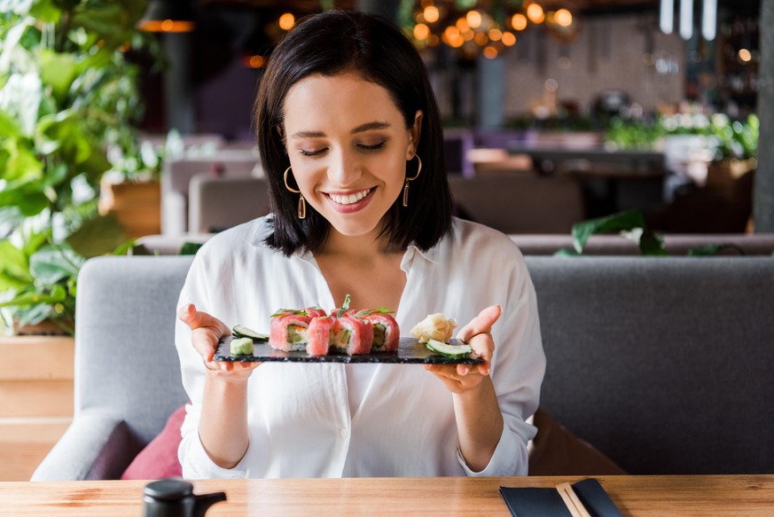
[[[223,439],[228,436],[228,439]],[[199,419],[199,440],[215,465],[233,468],[250,443],[247,431],[247,379],[234,381],[207,372]]]

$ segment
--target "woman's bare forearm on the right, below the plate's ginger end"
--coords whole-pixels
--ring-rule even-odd
[[[459,451],[471,470],[481,472],[489,465],[503,433],[503,414],[495,387],[486,377],[477,387],[453,397]]]

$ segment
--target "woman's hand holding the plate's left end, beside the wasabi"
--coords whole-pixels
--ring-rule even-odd
[[[181,307],[177,312],[177,317],[185,325],[191,327],[193,348],[199,352],[207,372],[228,380],[246,380],[250,373],[261,364],[213,361],[218,341],[220,341],[221,337],[231,333],[229,327],[216,317],[207,314],[207,312],[197,310],[192,303]]]

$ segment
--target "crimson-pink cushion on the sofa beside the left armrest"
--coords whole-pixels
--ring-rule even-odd
[[[181,477],[183,470],[177,460],[177,447],[180,445],[180,426],[185,418],[185,406],[175,410],[167,420],[167,425],[151,443],[140,450],[131,464],[121,474],[121,479],[162,479]]]

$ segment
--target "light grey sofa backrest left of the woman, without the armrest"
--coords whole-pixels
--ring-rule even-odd
[[[185,403],[177,298],[192,256],[98,257],[78,277],[75,407],[123,419],[140,443]]]

